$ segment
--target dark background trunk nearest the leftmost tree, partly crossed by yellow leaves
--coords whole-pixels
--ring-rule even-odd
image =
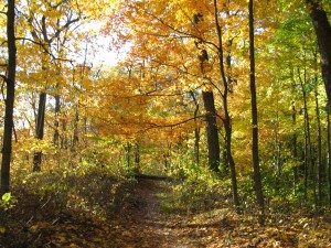
[[[46,94],[41,93],[39,95],[39,107],[36,116],[35,137],[39,140],[44,138],[44,126],[45,126],[45,108],[46,108]],[[42,152],[38,151],[33,155],[33,171],[41,171]]]

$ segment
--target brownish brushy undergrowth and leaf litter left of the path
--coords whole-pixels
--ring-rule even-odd
[[[134,185],[99,169],[30,174],[13,186],[13,206],[0,209],[0,247],[113,247],[109,219]]]

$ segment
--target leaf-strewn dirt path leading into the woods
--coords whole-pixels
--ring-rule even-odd
[[[126,219],[120,222],[118,247],[206,247],[220,223],[194,223],[193,216],[162,211],[161,201],[171,197],[168,182],[140,179],[135,187]]]

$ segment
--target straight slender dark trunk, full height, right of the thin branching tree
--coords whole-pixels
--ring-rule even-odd
[[[258,157],[258,123],[257,123],[257,103],[256,103],[256,86],[255,86],[255,47],[254,47],[254,1],[249,0],[249,58],[250,58],[250,96],[252,96],[252,154],[253,154],[253,169],[254,169],[254,183],[256,202],[259,207],[260,217],[259,222],[264,224],[265,219],[265,204],[263,185],[259,171],[259,157]]]

